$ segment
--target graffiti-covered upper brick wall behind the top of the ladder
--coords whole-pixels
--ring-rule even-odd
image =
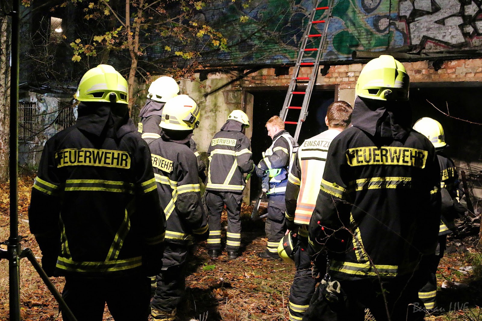
[[[226,0],[203,8],[206,21],[228,37],[228,52],[207,54],[208,65],[272,65],[295,61],[308,16],[328,0]],[[245,21],[241,22],[240,17]],[[321,14],[319,19],[326,19]],[[319,28],[318,30],[316,28]],[[312,33],[322,32],[314,25]],[[415,45],[413,51],[482,49],[480,0],[335,0],[322,60],[353,51]]]

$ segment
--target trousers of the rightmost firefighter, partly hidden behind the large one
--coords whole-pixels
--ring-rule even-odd
[[[439,243],[437,244],[436,253],[429,255],[423,260],[421,269],[425,269],[428,273],[428,281],[418,291],[418,297],[422,300],[425,309],[430,311],[436,306],[436,294],[437,294],[437,269],[439,267],[440,260],[445,252],[445,242],[447,234],[439,236]]]

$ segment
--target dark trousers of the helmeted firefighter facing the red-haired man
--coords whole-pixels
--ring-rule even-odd
[[[239,251],[241,246],[241,201],[241,193],[206,191],[209,224],[208,249],[221,249],[221,213],[226,204],[228,211],[226,250]]]

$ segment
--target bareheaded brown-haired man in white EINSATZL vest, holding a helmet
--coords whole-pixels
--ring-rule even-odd
[[[316,281],[311,277],[308,255],[308,224],[315,209],[328,148],[333,138],[348,127],[352,110],[345,101],[336,101],[328,106],[325,117],[328,130],[301,144],[288,175],[285,196],[286,226],[296,233],[298,240],[292,254],[296,272],[290,289],[290,321],[303,318],[315,292]],[[278,246],[278,252],[282,248],[283,244]],[[282,257],[282,254],[280,256]]]

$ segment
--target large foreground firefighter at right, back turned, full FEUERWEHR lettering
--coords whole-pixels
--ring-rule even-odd
[[[430,141],[410,126],[408,88],[392,56],[368,62],[353,126],[328,151],[308,242],[312,260],[328,251],[329,273],[346,295],[337,320],[362,321],[365,308],[377,321],[424,318],[417,292],[426,280],[417,268],[437,245],[440,167]]]

